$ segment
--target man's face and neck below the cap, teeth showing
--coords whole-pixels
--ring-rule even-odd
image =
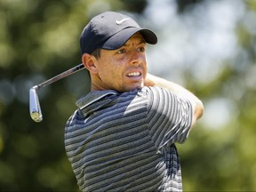
[[[147,75],[146,43],[140,33],[114,51],[101,50],[97,61],[105,89],[129,92],[144,86]]]

